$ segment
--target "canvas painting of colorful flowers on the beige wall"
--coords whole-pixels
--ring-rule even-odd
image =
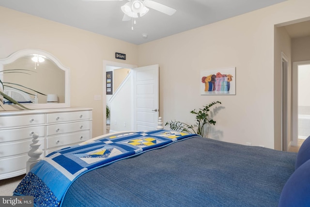
[[[200,74],[201,95],[235,95],[236,68],[202,70]]]

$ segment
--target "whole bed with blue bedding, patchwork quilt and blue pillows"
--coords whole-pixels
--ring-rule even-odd
[[[297,154],[170,130],[107,134],[56,151],[14,191],[34,196],[35,206],[62,207],[301,207],[309,194],[310,138]]]

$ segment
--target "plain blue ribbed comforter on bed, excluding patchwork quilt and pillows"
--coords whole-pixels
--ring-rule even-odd
[[[277,207],[296,153],[193,137],[84,174],[63,207]]]

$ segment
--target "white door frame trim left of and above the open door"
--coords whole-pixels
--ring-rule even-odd
[[[107,133],[107,112],[106,112],[106,90],[107,90],[107,82],[106,82],[106,71],[107,71],[107,66],[113,66],[113,67],[121,67],[121,68],[137,68],[137,65],[134,64],[124,64],[124,63],[118,63],[118,62],[113,62],[113,61],[103,61],[103,77],[102,77],[102,82],[103,82],[103,98],[102,98],[102,107],[103,107],[103,134]]]

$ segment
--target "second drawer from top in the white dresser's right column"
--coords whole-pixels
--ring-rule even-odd
[[[91,121],[49,125],[47,126],[47,136],[89,130],[90,128]]]

